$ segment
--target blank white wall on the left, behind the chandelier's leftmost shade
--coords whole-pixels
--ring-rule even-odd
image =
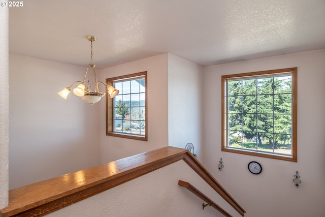
[[[73,92],[86,67],[10,54],[9,188],[99,164],[99,105]]]

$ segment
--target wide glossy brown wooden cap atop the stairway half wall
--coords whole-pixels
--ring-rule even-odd
[[[192,153],[171,146],[12,189],[0,216],[43,216],[180,160],[244,216],[245,210]]]

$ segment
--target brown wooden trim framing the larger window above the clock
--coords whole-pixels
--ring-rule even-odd
[[[278,70],[269,70],[269,71],[259,71],[259,72],[250,72],[250,73],[240,73],[240,74],[232,74],[232,75],[223,75],[221,76],[221,151],[228,151],[233,153],[241,153],[247,154],[250,156],[256,157],[264,157],[264,158],[271,158],[277,160],[284,160],[284,161],[291,161],[297,162],[297,93],[298,93],[298,82],[297,82],[297,68],[287,68],[287,69],[278,69]],[[226,147],[227,145],[227,135],[226,130],[224,130],[225,121],[227,120],[226,109],[227,105],[225,104],[225,81],[229,78],[236,78],[236,77],[248,77],[248,76],[258,76],[258,75],[270,75],[270,74],[278,74],[278,73],[285,73],[290,72],[292,73],[292,157],[284,157],[277,154],[268,154],[268,153],[257,153],[257,152],[249,152],[244,150],[232,149]],[[228,121],[227,121],[228,122]],[[228,129],[228,126],[226,126]]]

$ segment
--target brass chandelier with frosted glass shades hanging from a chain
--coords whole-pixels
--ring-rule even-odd
[[[86,102],[86,103],[90,103],[91,105],[99,102],[102,97],[105,96],[105,92],[100,92],[98,89],[98,84],[104,84],[106,86],[106,90],[108,92],[108,94],[110,95],[111,98],[114,98],[116,95],[118,95],[119,90],[115,89],[113,86],[108,85],[105,81],[97,81],[96,78],[96,70],[95,70],[95,65],[92,62],[92,42],[96,41],[96,37],[94,36],[87,36],[87,39],[90,41],[90,64],[87,67],[86,73],[85,73],[85,77],[83,78],[83,81],[75,81],[71,84],[71,86],[68,86],[66,88],[64,88],[63,90],[57,92],[58,95],[60,95],[60,97],[62,97],[64,100],[67,99],[71,87],[75,84],[75,83],[80,83],[77,87],[75,87],[73,89],[73,93],[78,96],[81,97],[81,99]],[[90,81],[88,79],[86,79],[87,77],[87,72],[88,69],[92,68],[93,70],[93,74],[95,77],[95,91],[91,92],[91,85],[90,85]]]

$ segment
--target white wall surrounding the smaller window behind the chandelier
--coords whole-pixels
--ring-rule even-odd
[[[100,162],[107,163],[168,146],[168,54],[99,70],[99,80],[147,71],[148,141],[106,136],[105,100],[100,104]]]

